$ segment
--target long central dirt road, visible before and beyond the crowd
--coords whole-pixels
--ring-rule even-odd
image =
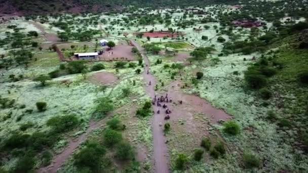
[[[146,74],[147,70],[150,68],[150,63],[147,58],[147,56],[144,53],[144,49],[140,47],[137,42],[131,40],[131,44],[134,45],[139,52],[141,53],[145,67],[143,72],[143,78],[144,80],[149,83],[151,81],[151,85],[146,85],[146,93],[151,98],[155,97],[155,85],[156,85],[156,79],[151,74]],[[166,138],[163,133],[163,128],[159,126],[160,123],[164,122],[164,116],[157,114],[157,110],[154,110],[155,113],[152,118],[152,131],[153,131],[153,150],[154,150],[154,171],[157,173],[167,173],[170,172],[170,163],[169,163],[169,155],[168,155],[168,149],[166,145]]]

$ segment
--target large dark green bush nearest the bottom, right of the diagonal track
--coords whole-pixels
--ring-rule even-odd
[[[97,142],[88,142],[86,147],[74,155],[74,164],[79,168],[87,167],[92,171],[100,170],[106,150]]]

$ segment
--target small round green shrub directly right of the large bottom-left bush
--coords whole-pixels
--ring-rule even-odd
[[[131,160],[135,157],[133,147],[127,142],[121,142],[117,146],[115,155],[121,160]]]

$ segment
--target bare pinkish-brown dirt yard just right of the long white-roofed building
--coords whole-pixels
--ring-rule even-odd
[[[110,51],[105,51],[102,55],[98,56],[101,61],[134,61],[135,56],[132,53],[132,46],[117,45]]]

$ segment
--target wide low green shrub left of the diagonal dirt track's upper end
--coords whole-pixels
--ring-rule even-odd
[[[75,115],[54,116],[47,121],[47,126],[50,126],[55,132],[66,132],[74,128],[79,123]]]

